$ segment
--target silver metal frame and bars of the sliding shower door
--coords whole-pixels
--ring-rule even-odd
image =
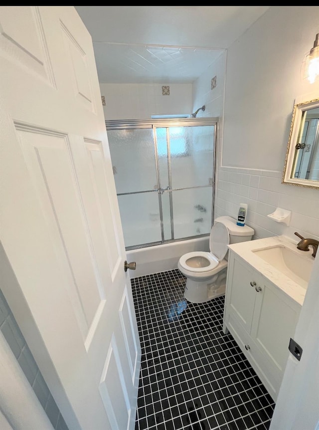
[[[213,221],[214,214],[214,196],[215,196],[215,177],[216,177],[216,142],[217,142],[217,124],[218,118],[158,118],[152,120],[111,120],[105,121],[107,130],[133,130],[133,129],[142,129],[142,128],[152,128],[153,129],[153,139],[154,139],[154,149],[155,149],[155,168],[157,175],[157,186],[158,188],[153,190],[144,190],[144,191],[136,191],[130,193],[118,193],[117,196],[126,196],[132,194],[144,194],[150,192],[157,192],[159,196],[159,212],[160,212],[160,232],[161,232],[161,241],[149,242],[140,245],[127,246],[126,250],[131,249],[139,249],[145,248],[148,246],[159,245],[163,243],[170,243],[176,240],[188,240],[197,237],[207,236],[208,233],[197,234],[194,236],[187,236],[183,238],[174,238],[174,218],[173,218],[173,201],[172,201],[172,191],[178,190],[187,190],[193,188],[204,188],[206,186],[198,186],[198,187],[183,187],[183,188],[175,188],[171,187],[171,160],[170,160],[170,139],[168,130],[171,127],[193,127],[193,126],[214,126],[214,148],[213,148],[213,184],[212,184],[212,214],[211,214],[211,225]],[[157,144],[157,128],[166,128],[166,145],[167,145],[167,171],[168,171],[168,187],[165,189],[161,188],[160,185],[160,164],[159,164],[159,151]],[[162,209],[162,200],[161,196],[164,193],[169,193],[169,210],[170,210],[170,230],[171,230],[171,239],[164,238],[164,223],[163,223],[163,209]]]

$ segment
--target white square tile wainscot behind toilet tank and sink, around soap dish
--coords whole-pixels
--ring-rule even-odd
[[[215,217],[237,217],[240,203],[248,204],[246,223],[255,229],[254,239],[284,234],[299,240],[319,239],[318,190],[281,183],[282,172],[219,167]],[[267,215],[279,207],[292,212],[290,225],[277,223]]]

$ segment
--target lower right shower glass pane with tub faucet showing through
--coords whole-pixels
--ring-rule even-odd
[[[172,191],[174,238],[210,233],[212,225],[212,187]]]

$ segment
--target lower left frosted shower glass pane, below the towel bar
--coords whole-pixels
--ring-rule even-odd
[[[161,241],[159,195],[118,196],[125,247]]]

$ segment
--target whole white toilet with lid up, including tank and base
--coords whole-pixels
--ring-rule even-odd
[[[203,303],[225,294],[228,245],[251,240],[255,230],[237,225],[231,216],[215,219],[209,236],[208,251],[187,252],[177,267],[186,276],[184,297],[191,303]]]

